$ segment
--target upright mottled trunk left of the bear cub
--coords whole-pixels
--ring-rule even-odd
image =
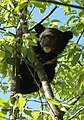
[[[18,81],[20,81],[20,79],[21,79],[20,60],[21,60],[22,35],[27,30],[27,24],[25,24],[25,19],[26,19],[26,15],[24,14],[25,12],[27,12],[26,6],[19,14],[20,26],[16,31],[16,37],[19,37],[19,39],[15,43],[14,52],[13,52],[14,65],[13,65],[13,75],[12,75],[12,83],[11,83],[12,86],[11,86],[11,95],[10,95],[10,99],[11,99],[10,120],[16,120],[19,117],[19,109],[16,108],[13,110],[13,106],[17,99],[13,96],[16,94],[17,84],[18,84],[18,89],[20,89],[20,83],[18,83]]]

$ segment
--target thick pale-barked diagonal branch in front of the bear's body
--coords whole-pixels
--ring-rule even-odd
[[[48,77],[43,69],[42,63],[37,58],[35,58],[35,70],[39,76],[41,83],[42,83],[42,88],[44,90],[46,100],[48,98],[54,99],[52,89],[51,89],[50,84],[48,82]],[[48,102],[48,100],[47,100],[47,102]],[[55,105],[51,104],[50,102],[48,102],[48,105],[49,105],[50,111],[52,113],[52,119],[53,120],[62,120],[63,112],[60,111],[58,106],[55,106]]]

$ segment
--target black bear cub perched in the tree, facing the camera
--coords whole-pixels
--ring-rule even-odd
[[[35,27],[35,31],[37,33],[38,41],[37,46],[34,46],[33,50],[36,56],[40,56],[39,60],[43,64],[49,82],[51,82],[55,75],[57,56],[64,50],[68,41],[72,39],[73,34],[71,31],[61,32],[56,28],[45,28],[41,24],[38,24]],[[20,65],[20,75],[20,89],[16,90],[16,92],[30,94],[41,88],[42,85],[39,76],[30,64],[26,65],[26,63],[22,61]],[[18,88],[17,83],[16,88]]]

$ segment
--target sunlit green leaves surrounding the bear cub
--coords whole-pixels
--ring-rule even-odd
[[[60,0],[61,2],[73,4],[70,0]],[[76,0],[75,4],[80,6],[84,5],[82,0]],[[28,20],[28,28],[31,28],[36,21],[33,20],[33,17],[36,17],[34,14],[34,10],[36,12],[40,12],[40,14],[45,13],[48,7],[52,7],[52,4],[45,2],[38,2],[37,0],[4,0],[0,3],[0,28],[3,30],[0,31],[0,73],[2,74],[2,78],[9,76],[12,78],[12,65],[13,65],[13,51],[15,49],[15,43],[18,38],[11,36],[8,31],[12,31],[14,34],[16,33],[17,25],[19,24],[18,13],[24,6],[27,5],[27,15],[26,19]],[[59,8],[60,9],[60,8]],[[59,13],[60,14],[60,13]],[[74,114],[80,107],[84,105],[83,97],[78,101],[77,104],[70,105],[68,104],[73,100],[77,95],[80,95],[84,91],[84,44],[83,40],[83,31],[84,31],[84,10],[72,9],[70,7],[64,7],[64,15],[67,16],[68,20],[66,24],[59,27],[59,23],[61,20],[57,18],[53,18],[53,20],[47,18],[44,25],[50,27],[58,27],[62,31],[66,31],[71,28],[74,39],[76,42],[70,42],[66,47],[65,51],[59,56],[58,64],[56,67],[56,75],[54,81],[52,82],[53,92],[56,93],[56,100],[49,100],[51,103],[56,104],[60,107],[60,109],[67,114],[64,116],[64,120],[66,120],[69,116]],[[36,45],[35,44],[35,34],[28,33],[23,37],[23,46],[21,46],[21,51],[24,56],[28,56],[28,59],[33,62],[33,54],[30,53],[29,46]],[[32,39],[32,42],[31,42]],[[79,42],[81,41],[81,42]],[[9,81],[10,83],[10,81]],[[0,82],[1,91],[4,93],[7,92],[8,86],[4,86],[2,81]],[[19,95],[18,95],[19,96]],[[15,103],[14,109],[19,108],[21,115],[25,113],[25,115],[20,116],[20,119],[27,119],[27,115],[30,119],[38,120],[41,119],[40,112],[31,112],[27,109],[24,109],[26,106],[26,99],[32,97],[37,97],[38,94],[35,93],[33,95],[25,96],[24,98],[21,96]],[[41,96],[43,97],[42,93]],[[61,102],[60,102],[61,101]],[[69,101],[69,102],[68,102]],[[4,100],[0,99],[0,107],[2,109],[9,108],[9,101],[7,103]],[[6,106],[6,108],[4,108]],[[67,107],[71,108],[67,111]],[[47,110],[47,107],[45,106]],[[7,115],[7,112],[0,112],[0,119],[3,120]],[[36,116],[36,117],[35,117]],[[84,115],[83,112],[80,115],[75,116],[74,120],[83,120]],[[51,117],[47,114],[44,115],[44,120],[51,120]]]

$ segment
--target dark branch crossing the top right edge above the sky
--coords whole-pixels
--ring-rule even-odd
[[[73,7],[73,8],[84,10],[84,7],[77,6],[77,5],[71,5],[71,4],[63,3],[63,2],[61,3],[61,2],[58,2],[58,1],[52,1],[52,0],[39,0],[39,1],[53,3],[53,4],[57,4],[57,5],[67,6],[67,7]]]

